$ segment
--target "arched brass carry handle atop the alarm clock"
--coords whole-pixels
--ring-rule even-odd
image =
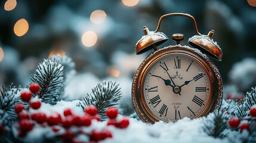
[[[156,28],[155,33],[158,32],[158,30],[160,29],[160,25],[161,25],[162,19],[164,19],[165,17],[171,17],[171,16],[183,16],[183,17],[188,17],[188,18],[192,19],[193,23],[194,23],[196,34],[197,35],[201,35],[201,33],[198,32],[198,26],[196,26],[195,18],[192,15],[183,14],[183,13],[171,13],[171,14],[162,15],[162,17],[159,19],[158,27]]]

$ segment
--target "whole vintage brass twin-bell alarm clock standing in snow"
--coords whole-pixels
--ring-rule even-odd
[[[158,49],[168,40],[158,32],[165,17],[183,16],[193,20],[196,34],[189,39],[192,47],[180,45],[182,34],[172,35],[176,45]],[[176,122],[183,117],[196,119],[219,109],[223,98],[223,83],[217,67],[207,55],[221,60],[222,51],[213,41],[214,30],[208,35],[198,32],[195,18],[189,14],[171,13],[159,19],[155,32],[143,27],[144,36],[136,44],[141,54],[150,54],[138,67],[132,81],[132,103],[143,122]]]

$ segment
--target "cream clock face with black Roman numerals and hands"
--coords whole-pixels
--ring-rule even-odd
[[[186,55],[169,55],[147,71],[143,97],[147,109],[159,120],[195,119],[208,106],[211,82],[198,61]]]

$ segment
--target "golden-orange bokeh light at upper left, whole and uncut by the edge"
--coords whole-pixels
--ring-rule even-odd
[[[29,30],[29,23],[27,23],[27,20],[22,18],[14,24],[13,30],[17,36],[23,36],[27,33],[27,30]]]

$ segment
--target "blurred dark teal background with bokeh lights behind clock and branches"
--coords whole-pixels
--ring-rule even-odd
[[[124,112],[132,112],[131,84],[135,70],[150,54],[135,54],[143,26],[154,31],[168,13],[195,17],[200,33],[214,29],[223,50],[215,61],[223,78],[225,98],[242,98],[256,85],[256,2],[217,0],[1,0],[0,85],[26,86],[37,65],[52,54],[66,54],[76,75],[66,95],[81,99],[97,83],[112,80],[122,88]],[[181,45],[196,35],[192,20],[170,17],[160,32],[171,38],[183,33]],[[158,48],[174,45],[169,39]],[[127,102],[129,101],[129,102]],[[127,111],[126,111],[127,110]],[[128,114],[128,113],[127,113]]]

